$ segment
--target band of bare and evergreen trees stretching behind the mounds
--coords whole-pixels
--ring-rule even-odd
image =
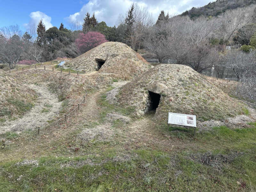
[[[194,17],[169,16],[161,11],[157,21],[146,7],[132,4],[126,14],[119,17],[118,26],[108,27],[98,22],[95,14],[86,13],[84,22],[71,23],[69,29],[60,27],[46,30],[42,20],[36,28],[23,35],[19,26],[0,29],[0,62],[15,68],[21,60],[48,61],[58,57],[75,58],[93,47],[117,41],[129,45],[133,50],[145,49],[156,54],[160,63],[171,59],[175,63],[188,65],[197,72],[209,68],[217,77],[224,68],[237,73],[230,52],[249,55],[254,50],[256,38],[256,8],[227,10],[218,16]],[[227,45],[240,47],[226,52]],[[237,61],[239,63],[239,61]],[[243,70],[244,71],[244,70]]]

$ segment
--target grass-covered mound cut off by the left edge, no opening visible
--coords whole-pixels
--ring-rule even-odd
[[[0,123],[23,116],[35,100],[33,90],[0,70]]]

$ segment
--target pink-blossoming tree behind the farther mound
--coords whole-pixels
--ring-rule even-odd
[[[105,36],[96,31],[90,31],[86,34],[80,33],[76,39],[76,46],[81,53],[85,53],[90,49],[108,42]]]

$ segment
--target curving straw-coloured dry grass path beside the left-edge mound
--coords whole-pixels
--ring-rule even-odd
[[[0,134],[7,131],[21,132],[27,129],[36,129],[38,126],[47,124],[54,116],[58,116],[61,102],[56,95],[49,92],[46,86],[27,85],[35,90],[38,95],[38,101],[35,106],[21,119],[6,122],[4,127],[0,128]]]

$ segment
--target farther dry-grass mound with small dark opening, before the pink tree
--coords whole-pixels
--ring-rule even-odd
[[[151,66],[129,46],[119,42],[106,42],[65,63],[65,67],[83,72],[99,70],[113,73],[122,79],[131,79]]]

